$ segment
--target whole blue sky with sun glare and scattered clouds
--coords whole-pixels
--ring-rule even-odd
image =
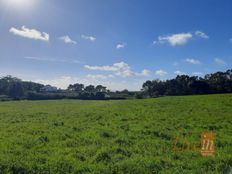
[[[0,76],[138,90],[231,69],[230,0],[0,0]]]

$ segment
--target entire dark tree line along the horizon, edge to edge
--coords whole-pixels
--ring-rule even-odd
[[[52,90],[51,90],[52,89]],[[169,80],[147,80],[141,91],[112,92],[103,85],[70,84],[67,89],[22,81],[5,76],[0,78],[0,100],[47,100],[47,99],[127,99],[166,95],[218,94],[232,92],[232,70],[207,74],[204,77],[178,75]]]

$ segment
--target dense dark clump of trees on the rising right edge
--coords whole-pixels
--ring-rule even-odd
[[[165,95],[218,94],[232,92],[232,69],[207,74],[204,77],[178,75],[170,80],[148,80],[138,97]]]

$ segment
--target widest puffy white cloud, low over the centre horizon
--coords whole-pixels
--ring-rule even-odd
[[[148,76],[149,70],[144,69],[141,73],[133,72],[131,67],[125,62],[114,63],[113,65],[106,66],[90,66],[85,65],[84,68],[92,71],[111,71],[116,76],[130,77],[130,76]]]

